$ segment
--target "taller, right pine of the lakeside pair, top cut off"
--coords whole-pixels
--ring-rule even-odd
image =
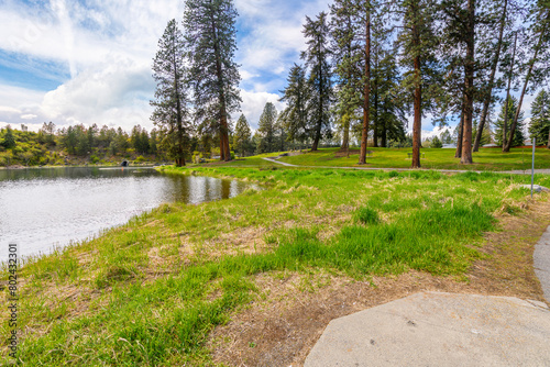
[[[230,113],[239,110],[237,10],[232,0],[186,0],[185,38],[190,60],[196,119],[201,130],[219,132],[220,159],[231,160]]]

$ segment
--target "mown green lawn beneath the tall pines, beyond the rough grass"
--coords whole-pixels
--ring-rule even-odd
[[[411,159],[407,153],[411,148],[373,148],[372,156],[366,157],[366,165],[360,166],[359,152],[350,157],[337,157],[339,148],[323,148],[319,152],[279,158],[280,162],[298,166],[328,166],[328,167],[373,167],[373,168],[409,168]],[[420,164],[427,169],[468,169],[468,170],[510,170],[530,169],[531,149],[514,148],[510,153],[502,153],[498,148],[485,148],[473,154],[473,165],[461,165],[454,158],[454,149],[422,148]],[[252,157],[251,157],[252,158]],[[537,148],[535,153],[535,168],[550,168],[550,151]]]

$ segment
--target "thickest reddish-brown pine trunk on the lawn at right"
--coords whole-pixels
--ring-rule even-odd
[[[466,60],[464,65],[464,122],[460,163],[472,164],[472,121],[474,113],[475,0],[468,1]]]

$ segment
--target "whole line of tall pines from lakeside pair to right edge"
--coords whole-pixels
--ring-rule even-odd
[[[525,96],[548,80],[549,0],[336,0],[306,16],[302,64],[290,68],[282,91],[287,108],[275,113],[266,104],[255,137],[246,137],[244,116],[234,132],[230,122],[241,102],[237,16],[230,0],[188,0],[183,32],[173,20],[158,43],[152,120],[173,136],[178,165],[193,136],[219,144],[220,158],[231,159],[232,133],[242,152],[285,144],[316,151],[336,138],[349,152],[360,136],[365,163],[367,144],[406,142],[411,116],[413,167],[420,167],[427,115],[440,127],[458,122],[455,156],[471,164],[491,123],[503,152],[522,144]],[[544,103],[535,103],[529,133],[548,142]],[[495,120],[498,104],[513,111]]]

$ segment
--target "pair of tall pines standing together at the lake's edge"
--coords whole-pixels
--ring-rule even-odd
[[[234,63],[237,10],[231,0],[185,2],[182,32],[168,22],[153,60],[157,87],[151,120],[163,132],[177,166],[193,152],[191,138],[220,146],[231,160],[230,113],[240,109]]]

